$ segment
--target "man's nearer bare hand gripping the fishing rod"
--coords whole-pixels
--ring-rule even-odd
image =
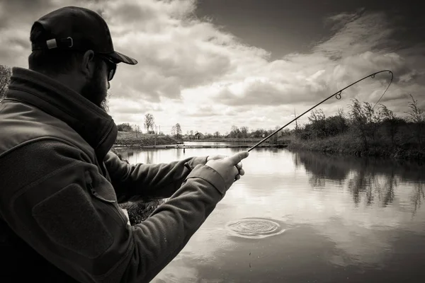
[[[211,156],[212,158],[208,157],[210,160],[205,165],[210,166],[222,176],[223,180],[225,180],[227,190],[234,181],[239,180],[241,175],[245,174],[241,161],[248,156],[248,151],[241,151],[232,156],[217,159],[214,158],[215,156]]]

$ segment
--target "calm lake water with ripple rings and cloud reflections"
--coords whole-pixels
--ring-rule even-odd
[[[237,151],[120,149],[130,163]],[[254,149],[244,169],[152,282],[425,282],[424,166]]]

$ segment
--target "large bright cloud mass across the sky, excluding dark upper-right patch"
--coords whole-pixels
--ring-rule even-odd
[[[310,52],[271,60],[267,50],[244,45],[225,27],[197,18],[195,0],[20,0],[0,5],[0,63],[18,67],[27,67],[30,26],[40,16],[66,5],[101,13],[115,50],[139,61],[120,64],[111,82],[110,112],[116,122],[138,120],[142,125],[143,112],[152,111],[157,122],[170,128],[176,122],[202,132],[224,132],[244,123],[273,128],[288,122],[294,109],[307,110],[381,69],[395,74],[381,100],[390,109],[407,111],[407,93],[424,96],[425,45],[396,41],[393,35],[403,27],[384,12],[358,9],[328,16],[324,24],[331,35]],[[374,103],[389,78],[366,79],[344,91],[345,100],[329,100],[321,107],[328,114],[346,107],[350,98]]]

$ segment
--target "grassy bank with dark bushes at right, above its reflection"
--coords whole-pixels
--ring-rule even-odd
[[[425,148],[419,144],[405,142],[393,146],[390,141],[379,139],[370,141],[365,147],[361,138],[353,134],[312,140],[295,138],[288,144],[288,149],[318,151],[326,154],[425,160]]]

